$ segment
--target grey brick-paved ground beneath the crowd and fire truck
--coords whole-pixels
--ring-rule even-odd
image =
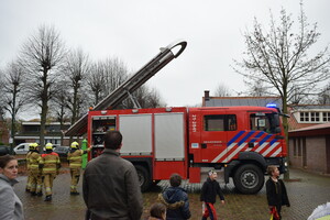
[[[286,182],[292,207],[283,208],[284,220],[307,219],[311,211],[321,204],[330,200],[330,177],[290,169],[290,178],[299,182]],[[52,202],[44,198],[31,197],[24,191],[26,176],[19,177],[15,191],[24,205],[28,220],[72,220],[84,219],[85,204],[81,196],[69,196],[69,174],[64,172],[54,182],[54,196]],[[147,208],[156,200],[157,195],[168,186],[168,182],[161,182],[151,191],[143,194],[144,215]],[[81,183],[79,183],[81,188]],[[184,185],[189,193],[191,219],[201,218],[201,204],[199,201],[200,184]],[[227,204],[217,204],[217,211],[221,220],[266,220],[268,219],[265,188],[256,195],[240,195],[232,184],[227,187],[221,184]],[[81,190],[81,189],[80,189]],[[219,201],[219,200],[218,200]]]

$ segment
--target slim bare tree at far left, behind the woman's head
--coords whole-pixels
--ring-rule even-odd
[[[15,134],[15,118],[21,108],[26,103],[22,85],[24,80],[24,72],[18,62],[8,64],[3,74],[2,85],[2,108],[11,116],[11,150],[13,148],[13,140]]]

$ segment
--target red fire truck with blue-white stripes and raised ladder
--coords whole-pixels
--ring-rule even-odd
[[[66,135],[87,132],[92,146],[89,160],[103,150],[107,131],[123,134],[121,156],[135,166],[142,190],[153,182],[178,173],[189,183],[200,183],[204,167],[222,169],[243,194],[255,194],[264,184],[267,165],[285,173],[286,143],[276,108],[205,107],[113,110],[123,99],[178,57],[187,43],[161,48],[161,53],[119,86],[94,110],[77,121]],[[179,46],[179,50],[177,47]],[[174,50],[176,48],[176,51]]]

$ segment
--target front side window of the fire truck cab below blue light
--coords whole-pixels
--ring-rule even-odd
[[[267,133],[279,133],[278,113],[256,112],[250,114],[251,130],[264,131]]]

